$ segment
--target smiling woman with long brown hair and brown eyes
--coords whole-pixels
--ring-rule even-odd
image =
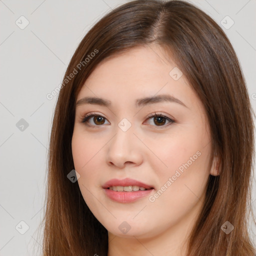
[[[43,255],[254,255],[252,114],[203,11],[137,0],[106,14],[59,92]]]

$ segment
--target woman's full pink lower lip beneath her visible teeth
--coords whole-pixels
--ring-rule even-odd
[[[104,188],[106,195],[117,202],[132,202],[144,196],[147,196],[153,189],[138,190],[138,191],[114,191],[112,189]]]

